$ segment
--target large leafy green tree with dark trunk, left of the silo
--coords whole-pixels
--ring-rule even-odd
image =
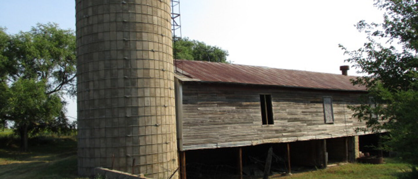
[[[74,32],[55,23],[15,35],[0,28],[0,127],[13,124],[24,150],[28,134],[68,123],[59,116],[63,95],[76,91],[75,49]]]

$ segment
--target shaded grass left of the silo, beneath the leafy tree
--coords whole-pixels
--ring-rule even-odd
[[[0,131],[1,179],[87,179],[77,176],[74,136],[31,138],[28,152],[18,143],[11,130]]]

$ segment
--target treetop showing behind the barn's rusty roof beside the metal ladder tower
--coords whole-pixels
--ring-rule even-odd
[[[204,42],[189,38],[176,38],[173,42],[173,56],[175,59],[213,61],[229,63],[228,51],[217,46],[209,46]]]

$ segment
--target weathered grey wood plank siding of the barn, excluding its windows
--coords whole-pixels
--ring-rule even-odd
[[[260,94],[272,97],[274,125],[262,125]],[[183,150],[353,136],[362,126],[347,105],[361,92],[250,85],[183,84]],[[334,123],[324,122],[331,96]]]

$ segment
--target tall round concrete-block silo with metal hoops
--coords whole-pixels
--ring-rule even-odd
[[[171,176],[178,161],[170,0],[76,0],[76,37],[79,174],[101,166]]]

